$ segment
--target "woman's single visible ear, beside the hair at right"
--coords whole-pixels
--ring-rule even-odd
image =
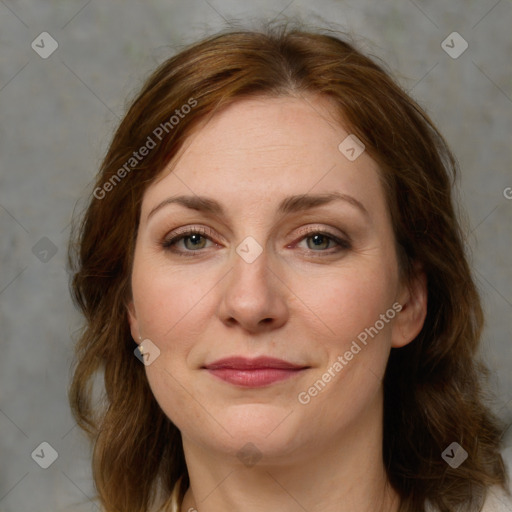
[[[392,347],[403,347],[420,333],[427,316],[427,297],[427,276],[419,265],[415,265],[413,278],[401,285],[397,302],[402,309],[393,323]]]

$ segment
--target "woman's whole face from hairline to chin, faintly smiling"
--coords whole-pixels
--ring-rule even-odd
[[[338,148],[349,133],[329,107],[235,103],[144,194],[129,319],[184,441],[286,460],[381,425],[390,349],[423,317],[399,280],[377,166],[350,139]],[[226,358],[249,366],[213,365]]]

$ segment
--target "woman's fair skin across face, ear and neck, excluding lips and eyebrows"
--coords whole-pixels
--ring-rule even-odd
[[[382,377],[391,348],[421,330],[426,283],[421,272],[401,282],[377,165],[367,152],[353,162],[340,152],[349,132],[329,107],[320,97],[239,101],[196,130],[144,194],[128,314],[133,338],[160,350],[146,372],[182,433],[191,480],[183,511],[398,509],[382,462]],[[366,213],[347,201],[277,213],[285,197],[333,191]],[[225,215],[167,204],[148,219],[177,195],[215,199]],[[163,247],[182,227],[209,229],[172,246],[189,256]],[[350,247],[315,245],[319,230]],[[248,236],[263,249],[252,263],[236,252]],[[299,403],[395,302],[400,313]],[[201,368],[233,355],[309,368],[262,388]],[[261,455],[252,466],[237,457],[248,442]]]

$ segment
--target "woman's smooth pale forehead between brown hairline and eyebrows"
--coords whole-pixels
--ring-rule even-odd
[[[189,136],[146,190],[143,209],[170,194],[214,195],[246,207],[308,192],[382,196],[369,155],[350,161],[339,150],[349,134],[326,98],[238,101]]]

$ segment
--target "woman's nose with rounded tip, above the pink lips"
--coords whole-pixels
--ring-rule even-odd
[[[284,325],[290,291],[279,276],[278,263],[266,250],[251,263],[235,252],[230,263],[232,270],[223,280],[219,318],[230,327],[238,325],[251,333]]]

